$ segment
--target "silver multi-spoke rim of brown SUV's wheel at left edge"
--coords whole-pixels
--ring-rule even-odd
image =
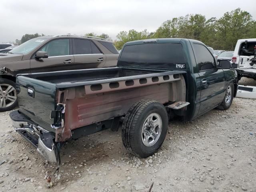
[[[6,108],[17,100],[16,89],[8,84],[0,84],[0,108]]]

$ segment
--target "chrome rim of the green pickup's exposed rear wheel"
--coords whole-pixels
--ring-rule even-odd
[[[150,147],[154,145],[162,132],[162,118],[157,113],[150,114],[144,121],[141,139],[145,146]]]

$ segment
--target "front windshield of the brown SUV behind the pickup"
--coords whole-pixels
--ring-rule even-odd
[[[34,38],[30,39],[24,43],[22,43],[20,46],[16,47],[15,49],[9,51],[8,53],[12,54],[27,54],[34,48],[36,48],[38,45],[42,44],[46,39],[45,38]]]

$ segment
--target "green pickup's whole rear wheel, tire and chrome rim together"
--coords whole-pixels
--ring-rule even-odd
[[[124,147],[138,157],[147,158],[161,147],[167,128],[164,106],[155,100],[141,100],[128,110],[122,124]]]

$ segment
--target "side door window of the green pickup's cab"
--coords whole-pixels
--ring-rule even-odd
[[[194,52],[196,57],[196,63],[198,64],[198,68],[200,71],[215,68],[214,58],[205,46],[194,43]]]

